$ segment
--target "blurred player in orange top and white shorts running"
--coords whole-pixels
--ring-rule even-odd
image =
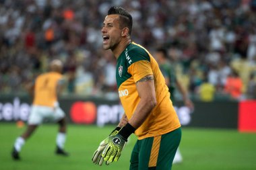
[[[30,91],[34,91],[34,100],[28,118],[28,127],[26,132],[19,136],[14,143],[11,156],[13,159],[20,159],[20,151],[25,141],[31,136],[45,118],[53,120],[59,123],[59,133],[57,134],[57,149],[55,151],[58,155],[65,155],[63,150],[66,138],[66,120],[65,113],[59,107],[57,95],[60,93],[63,87],[62,80],[62,63],[60,60],[53,60],[50,64],[51,71],[39,75],[34,82],[34,85],[30,88]]]

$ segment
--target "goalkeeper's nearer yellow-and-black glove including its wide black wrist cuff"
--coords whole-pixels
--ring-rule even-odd
[[[127,123],[117,134],[108,136],[108,144],[105,146],[104,151],[102,152],[104,161],[110,163],[113,161],[118,161],[127,142],[127,138],[134,131],[135,128],[133,128],[131,124]]]

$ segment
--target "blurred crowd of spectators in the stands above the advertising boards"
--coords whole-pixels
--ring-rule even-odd
[[[59,58],[65,94],[117,97],[100,32],[112,5],[131,12],[134,42],[168,49],[195,99],[256,98],[256,0],[0,0],[1,94],[24,93]]]

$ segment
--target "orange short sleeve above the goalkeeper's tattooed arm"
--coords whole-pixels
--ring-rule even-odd
[[[148,60],[134,62],[129,68],[128,73],[133,77],[134,82],[139,81],[146,75],[153,75],[153,71]]]

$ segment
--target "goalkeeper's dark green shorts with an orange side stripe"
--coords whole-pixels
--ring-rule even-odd
[[[170,170],[180,142],[181,128],[137,140],[131,153],[130,170]]]

